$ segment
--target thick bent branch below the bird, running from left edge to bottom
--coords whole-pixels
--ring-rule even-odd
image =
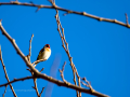
[[[26,66],[28,68],[30,68],[30,70],[35,73],[36,78],[40,78],[40,79],[47,80],[49,82],[52,82],[54,84],[57,84],[58,86],[73,88],[73,89],[79,91],[81,93],[87,93],[87,94],[90,94],[90,95],[93,95],[93,96],[109,97],[109,96],[104,95],[104,94],[99,93],[99,92],[93,92],[92,93],[90,89],[87,89],[87,88],[83,88],[83,87],[79,87],[79,86],[76,86],[76,85],[73,85],[73,84],[65,84],[64,82],[58,81],[56,79],[53,79],[52,77],[46,75],[44,73],[40,73],[35,67],[32,67],[32,64],[28,61],[28,58],[18,48],[15,40],[12,39],[12,37],[5,31],[5,29],[3,28],[1,22],[0,22],[0,30],[1,30],[2,34],[4,34],[6,37],[6,39],[12,43],[13,47],[15,48],[17,54],[22,57],[22,59],[25,61]]]

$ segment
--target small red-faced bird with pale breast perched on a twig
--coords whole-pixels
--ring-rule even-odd
[[[39,55],[37,57],[37,60],[39,59],[44,59],[43,61],[46,61],[51,55],[51,48],[49,44],[46,44],[43,46],[43,48],[41,48],[41,51],[39,52]],[[35,64],[35,67],[38,63]]]

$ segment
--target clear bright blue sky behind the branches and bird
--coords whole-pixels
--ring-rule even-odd
[[[0,0],[0,2],[10,0]],[[29,2],[23,0],[20,2]],[[47,0],[31,0],[36,4],[50,4]],[[129,0],[55,0],[58,6],[83,12],[112,19],[118,19],[126,23],[125,13],[130,19]],[[50,4],[51,5],[51,4]],[[35,61],[39,51],[44,44],[51,45],[51,57],[40,63],[36,68],[40,70],[44,67],[43,73],[50,75],[53,61],[57,59],[54,78],[62,80],[58,69],[64,61],[65,79],[73,82],[73,72],[69,66],[68,57],[62,47],[62,41],[57,32],[57,25],[54,18],[55,10],[41,9],[36,13],[36,8],[1,5],[0,18],[2,25],[9,34],[15,39],[22,52],[27,55],[29,40],[34,33],[31,45],[31,61]],[[86,77],[91,82],[93,88],[112,97],[129,97],[130,91],[130,29],[123,26],[99,22],[89,17],[68,14],[60,11],[60,19],[65,30],[65,38],[68,42],[70,55],[80,77]],[[130,23],[130,20],[129,20]],[[23,59],[16,54],[9,40],[0,32],[0,45],[2,48],[3,61],[10,80],[30,75],[26,70]],[[4,72],[0,64],[0,84],[5,83]],[[46,93],[49,83],[44,80],[38,80],[39,92],[46,86],[42,97],[76,97],[76,92],[57,85],[52,86],[52,94]],[[36,92],[32,80],[17,82],[12,84],[16,95],[34,96]],[[84,87],[84,86],[83,86]],[[51,92],[51,87],[49,88]],[[4,87],[0,88],[0,95]],[[48,94],[48,96],[46,95]],[[13,97],[8,86],[5,97]],[[93,97],[82,93],[82,97]]]

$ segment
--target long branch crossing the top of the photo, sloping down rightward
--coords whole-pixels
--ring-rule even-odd
[[[126,23],[119,22],[117,19],[104,18],[104,17],[92,15],[92,14],[88,14],[87,12],[72,11],[72,10],[63,9],[63,8],[60,8],[60,6],[56,6],[56,5],[53,6],[53,5],[43,5],[43,4],[34,4],[34,3],[22,3],[22,2],[18,2],[18,1],[17,2],[16,1],[0,2],[0,5],[5,5],[5,4],[8,4],[8,5],[15,4],[15,5],[35,6],[35,8],[38,8],[38,9],[57,9],[57,10],[66,12],[67,14],[69,14],[69,13],[78,14],[78,15],[87,16],[87,17],[90,17],[90,18],[93,18],[93,19],[96,19],[96,20],[100,20],[100,22],[114,23],[114,24],[118,24],[118,25],[125,26],[127,28],[130,28],[130,25],[127,25]]]

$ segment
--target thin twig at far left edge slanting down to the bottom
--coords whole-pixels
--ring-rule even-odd
[[[8,82],[10,82],[9,77],[8,77],[8,73],[6,73],[6,70],[5,70],[5,66],[4,66],[4,64],[3,64],[3,59],[2,59],[1,46],[0,46],[0,60],[1,60],[1,64],[2,64],[3,70],[4,70],[5,79],[8,80]],[[17,97],[17,96],[16,96],[16,93],[15,93],[14,89],[13,89],[13,86],[11,85],[11,83],[10,83],[10,87],[11,87],[11,89],[12,89],[12,93],[13,93],[14,97]]]

